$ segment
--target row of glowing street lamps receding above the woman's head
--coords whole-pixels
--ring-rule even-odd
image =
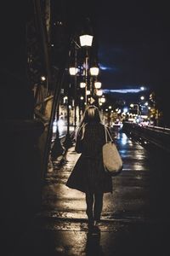
[[[99,75],[99,66],[97,63],[90,67],[91,57],[89,54],[89,48],[92,47],[94,36],[89,34],[83,34],[79,37],[80,43],[73,40],[75,44],[74,52],[74,64],[69,67],[69,73],[74,76],[74,86],[75,86],[75,96],[74,96],[74,108],[75,108],[75,128],[76,124],[76,109],[77,109],[77,91],[80,91],[80,99],[84,102],[84,109],[88,104],[93,104],[95,102],[95,97],[102,96],[101,82],[97,80]],[[85,59],[82,63],[78,63],[77,60],[77,49],[85,49]],[[71,53],[70,53],[71,55]],[[77,84],[77,77],[79,77],[79,84]],[[98,102],[99,103],[99,102]]]

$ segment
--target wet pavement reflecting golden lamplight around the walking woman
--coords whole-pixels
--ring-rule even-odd
[[[105,194],[99,234],[88,233],[85,198],[65,186],[79,154],[74,147],[65,165],[48,172],[42,212],[27,227],[10,255],[170,255],[168,157],[117,133],[122,173]]]

